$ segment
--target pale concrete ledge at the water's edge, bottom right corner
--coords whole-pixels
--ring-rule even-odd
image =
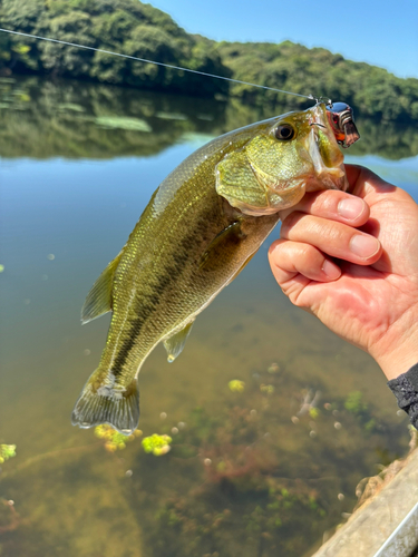
[[[312,557],[410,557],[418,547],[418,450]]]

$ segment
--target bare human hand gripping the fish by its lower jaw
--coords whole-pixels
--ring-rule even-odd
[[[293,304],[393,379],[418,362],[418,205],[367,168],[346,169],[350,194],[307,194],[282,212],[270,265]]]

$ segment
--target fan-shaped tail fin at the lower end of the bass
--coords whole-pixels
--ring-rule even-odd
[[[139,421],[139,390],[137,380],[120,391],[103,384],[97,369],[78,398],[72,410],[71,423],[87,429],[100,423],[107,423],[120,433],[129,436]]]

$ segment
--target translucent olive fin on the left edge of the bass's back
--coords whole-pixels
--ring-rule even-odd
[[[81,323],[88,323],[111,310],[111,290],[115,271],[120,262],[124,251],[107,265],[101,275],[87,294],[81,310]]]

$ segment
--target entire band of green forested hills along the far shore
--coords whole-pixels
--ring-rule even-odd
[[[382,68],[290,41],[216,43],[187,33],[167,13],[137,0],[0,0],[0,26],[303,95],[323,95],[378,119],[418,120],[418,79],[400,79]],[[208,97],[229,94],[271,109],[308,106],[305,99],[251,86],[0,33],[0,75],[11,72]]]

